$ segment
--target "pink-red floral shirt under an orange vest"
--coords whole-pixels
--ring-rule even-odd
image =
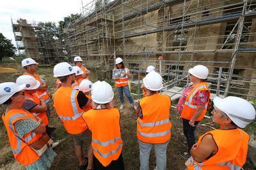
[[[192,84],[193,85],[193,84]],[[189,93],[192,91],[193,86],[187,86],[179,100],[179,103],[177,104],[177,110],[179,112],[182,112],[184,104],[186,102],[186,98],[188,97]],[[196,95],[193,97],[192,102],[195,105],[205,105],[210,97],[210,91],[204,90],[204,91],[198,91]]]

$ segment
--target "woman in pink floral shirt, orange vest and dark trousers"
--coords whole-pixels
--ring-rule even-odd
[[[181,144],[188,148],[188,151],[180,151],[180,156],[189,158],[189,151],[195,144],[195,129],[207,111],[210,91],[206,80],[209,70],[206,66],[197,65],[189,69],[189,79],[192,84],[185,87],[182,96],[177,104],[177,110],[180,112],[180,118],[183,122],[183,132],[186,141],[180,141]]]

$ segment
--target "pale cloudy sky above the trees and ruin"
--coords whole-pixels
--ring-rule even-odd
[[[83,0],[83,5],[90,1]],[[81,13],[81,8],[82,0],[1,0],[0,33],[16,46],[11,18],[58,23],[71,13]]]

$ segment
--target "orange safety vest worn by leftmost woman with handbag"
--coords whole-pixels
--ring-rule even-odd
[[[17,137],[18,134],[15,130],[15,122],[29,118],[37,121],[32,114],[24,109],[12,109],[2,116],[14,158],[23,166],[33,164],[40,158],[37,153],[29,147],[29,144],[38,141],[42,134],[36,134],[31,131],[20,138]]]

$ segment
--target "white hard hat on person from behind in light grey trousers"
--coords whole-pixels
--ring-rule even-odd
[[[163,79],[159,73],[153,71],[146,75],[143,79],[143,84],[147,89],[159,91],[163,88]]]

